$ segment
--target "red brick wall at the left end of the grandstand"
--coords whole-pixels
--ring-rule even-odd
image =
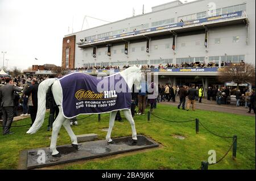
[[[69,42],[68,42],[69,40]],[[65,68],[65,53],[66,49],[69,48],[69,69],[75,68],[75,46],[76,46],[76,35],[68,36],[63,38],[63,48],[62,48],[62,64],[61,66]]]

